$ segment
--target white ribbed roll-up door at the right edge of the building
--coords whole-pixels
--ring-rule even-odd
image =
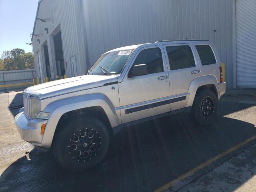
[[[236,1],[237,86],[256,88],[256,0]]]

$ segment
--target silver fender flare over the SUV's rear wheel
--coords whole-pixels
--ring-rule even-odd
[[[207,84],[214,84],[214,86],[218,92],[218,99],[220,98],[220,92],[218,90],[218,86],[217,86],[218,82],[217,82],[216,77],[214,75],[201,76],[201,77],[195,78],[190,83],[190,86],[188,88],[189,98],[188,98],[187,107],[190,107],[193,105],[194,98],[196,96],[196,91],[197,91],[198,87],[207,85]]]

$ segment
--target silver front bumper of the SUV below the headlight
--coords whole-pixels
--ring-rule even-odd
[[[46,124],[47,120],[29,120],[26,118],[24,112],[20,112],[15,117],[15,123],[17,130],[23,140],[36,146],[41,146],[43,139],[43,136],[41,135],[41,126],[42,124]]]

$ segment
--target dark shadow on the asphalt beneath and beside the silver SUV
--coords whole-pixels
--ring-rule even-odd
[[[33,149],[30,160],[24,156],[2,173],[0,188],[5,187],[6,191],[153,191],[255,135],[254,124],[224,117],[250,106],[222,102],[218,118],[207,126],[197,126],[189,114],[180,113],[126,127],[112,138],[106,158],[84,172],[67,172],[51,152]]]

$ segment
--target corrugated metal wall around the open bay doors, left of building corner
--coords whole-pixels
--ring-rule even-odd
[[[84,56],[84,42],[82,41],[82,29],[81,29],[81,17],[80,17],[80,1],[79,0],[42,0],[40,2],[40,7],[38,10],[38,18],[52,18],[53,24],[36,21],[36,26],[34,33],[40,34],[40,45],[37,44],[37,37],[33,37],[33,50],[34,53],[37,51],[42,52],[41,45],[45,40],[48,41],[48,51],[50,66],[54,64],[55,61],[52,61],[51,47],[50,44],[50,34],[54,29],[60,25],[61,34],[62,34],[62,48],[64,55],[64,62],[67,62],[68,76],[71,76],[71,64],[70,57],[76,56],[76,64],[79,75],[84,74],[86,71],[86,62]],[[48,28],[48,34],[45,34],[44,28]],[[35,54],[36,56],[36,54]],[[38,74],[38,58],[35,58],[36,61],[36,70]],[[42,56],[41,63],[44,63],[44,57]],[[55,67],[55,66],[53,66]],[[65,66],[66,68],[66,66]],[[44,70],[45,71],[45,70]],[[56,74],[55,74],[56,75]],[[46,76],[46,75],[44,75]]]

